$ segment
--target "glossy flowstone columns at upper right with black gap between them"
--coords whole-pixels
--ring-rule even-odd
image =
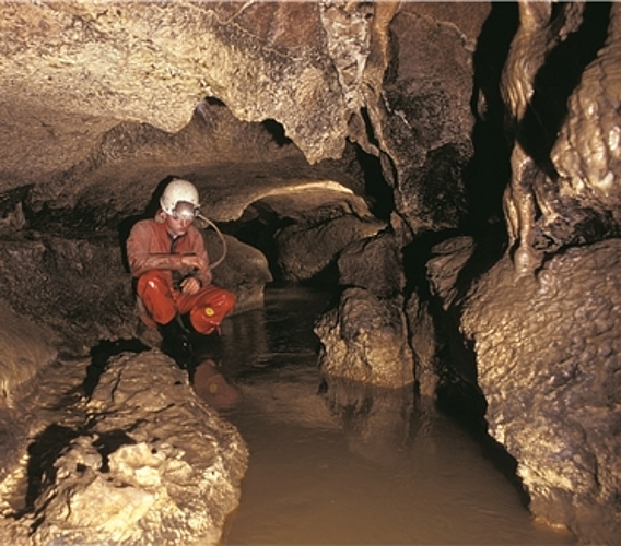
[[[519,13],[502,90],[514,138],[504,207],[523,275],[567,246],[621,235],[621,10],[519,2]]]

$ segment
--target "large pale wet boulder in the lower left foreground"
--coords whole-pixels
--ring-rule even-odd
[[[67,366],[66,384],[85,371],[83,364]],[[42,545],[216,544],[247,467],[237,430],[159,351],[120,353],[99,371],[96,385],[84,380],[68,393],[68,411],[50,408],[56,422],[33,424],[28,485],[20,486],[21,468],[13,490],[3,485],[3,498],[14,501],[13,510],[2,507],[0,537]]]

